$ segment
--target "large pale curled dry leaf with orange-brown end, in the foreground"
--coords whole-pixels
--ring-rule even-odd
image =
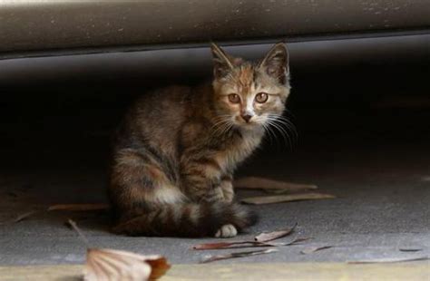
[[[83,278],[99,280],[153,280],[163,276],[171,266],[161,256],[142,256],[127,251],[89,248]]]

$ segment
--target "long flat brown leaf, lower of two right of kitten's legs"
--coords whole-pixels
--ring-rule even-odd
[[[261,196],[261,197],[249,197],[242,199],[242,203],[252,205],[272,204],[281,202],[301,201],[301,200],[316,200],[316,199],[334,199],[336,198],[330,194],[323,193],[301,193],[301,194],[290,194],[290,195],[274,195],[274,196]]]

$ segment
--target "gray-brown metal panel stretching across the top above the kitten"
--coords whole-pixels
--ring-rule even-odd
[[[13,57],[34,51],[88,53],[209,41],[420,33],[428,32],[429,12],[427,0],[4,0],[0,53]]]

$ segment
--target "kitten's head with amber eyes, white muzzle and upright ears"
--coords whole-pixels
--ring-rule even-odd
[[[275,44],[258,63],[234,58],[216,44],[211,50],[214,106],[220,121],[253,129],[282,115],[290,89],[285,44]]]

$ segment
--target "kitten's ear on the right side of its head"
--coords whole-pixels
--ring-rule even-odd
[[[259,63],[269,76],[277,79],[280,83],[288,81],[288,50],[284,43],[275,44]]]

